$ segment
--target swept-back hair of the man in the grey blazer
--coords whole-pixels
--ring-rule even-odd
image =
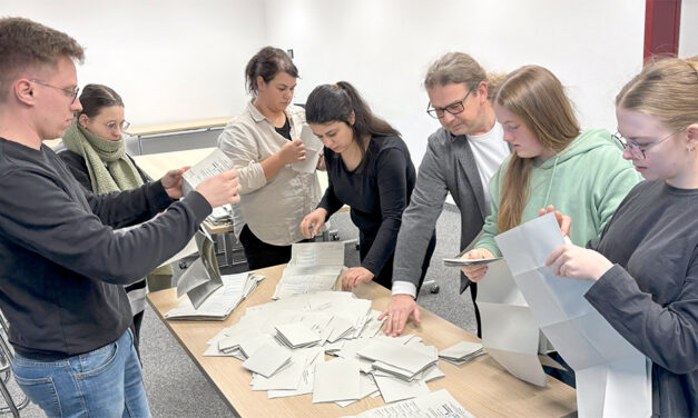
[[[471,56],[464,52],[449,52],[432,62],[424,77],[424,88],[436,86],[465,84],[466,88],[476,88],[482,81],[488,83],[488,99],[491,100],[497,84],[502,80],[502,73],[488,73]],[[475,96],[478,94],[474,91]]]

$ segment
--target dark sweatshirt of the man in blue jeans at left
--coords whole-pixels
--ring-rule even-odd
[[[121,337],[132,320],[121,285],[174,256],[212,210],[196,191],[173,203],[159,181],[94,195],[47,146],[3,138],[0,190],[0,309],[14,349],[46,360]]]

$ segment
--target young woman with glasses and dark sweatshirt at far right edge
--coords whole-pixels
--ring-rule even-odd
[[[567,245],[554,273],[652,361],[652,416],[698,414],[698,57],[648,64],[616,97],[619,137],[647,179],[599,239]],[[577,218],[572,215],[572,230]]]

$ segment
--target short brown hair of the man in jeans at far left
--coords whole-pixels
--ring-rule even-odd
[[[20,71],[56,67],[58,58],[82,62],[82,47],[63,32],[23,18],[0,19],[0,102]]]

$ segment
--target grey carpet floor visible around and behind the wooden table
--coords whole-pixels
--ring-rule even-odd
[[[352,225],[348,213],[338,213],[332,218],[332,228],[340,233],[340,239],[351,241],[358,231]],[[425,280],[434,280],[440,287],[439,293],[431,293],[431,286],[425,286],[419,303],[425,309],[474,334],[475,319],[470,293],[458,293],[458,269],[444,268],[441,259],[452,257],[459,251],[460,215],[453,206],[446,209],[436,225],[438,245]],[[351,243],[346,246],[347,266],[358,265],[358,253]],[[230,272],[225,271],[224,272]],[[150,411],[154,417],[228,417],[232,416],[216,389],[208,382],[189,356],[169,334],[157,315],[146,308],[141,329],[144,382]],[[16,397],[13,379],[10,387]],[[0,399],[0,402],[2,400]],[[22,417],[42,417],[35,405],[21,412]]]

